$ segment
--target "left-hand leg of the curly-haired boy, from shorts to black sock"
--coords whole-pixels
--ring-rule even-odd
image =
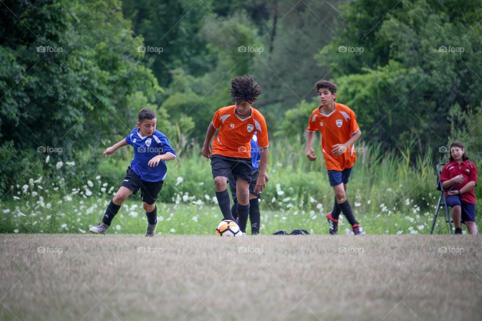
[[[231,207],[229,205],[229,193],[227,192],[227,176],[231,173],[233,162],[230,157],[212,155],[211,169],[214,179],[214,189],[216,191],[217,204],[221,210],[224,220],[232,220]]]

